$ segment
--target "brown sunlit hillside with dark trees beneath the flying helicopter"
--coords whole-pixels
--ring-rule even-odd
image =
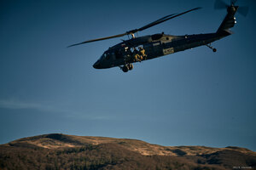
[[[137,139],[44,134],[0,144],[0,169],[252,169],[239,147],[161,146]]]

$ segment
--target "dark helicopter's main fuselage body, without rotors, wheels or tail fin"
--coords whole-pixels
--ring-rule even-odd
[[[152,36],[136,37],[108,48],[93,66],[96,69],[106,69],[137,62],[136,60],[127,60],[129,55],[132,54],[132,50],[136,50],[136,48],[143,48],[146,54],[143,60],[148,60],[177,53],[189,48],[207,45],[225,36],[228,35],[208,33],[172,36],[160,33]]]

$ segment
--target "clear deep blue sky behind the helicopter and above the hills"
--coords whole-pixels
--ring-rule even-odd
[[[163,16],[200,10],[138,32],[210,33],[226,10],[214,1],[0,1],[0,144],[44,133],[141,139],[166,146],[239,146],[256,151],[253,0],[235,33],[212,46],[134,64],[92,65],[119,37]]]

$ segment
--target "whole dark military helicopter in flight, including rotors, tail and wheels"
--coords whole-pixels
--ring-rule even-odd
[[[143,26],[135,30],[126,31],[123,34],[80,42],[70,45],[68,47],[88,42],[106,40],[114,37],[123,37],[125,35],[128,35],[129,37],[129,35],[131,35],[131,39],[123,40],[123,42],[120,42],[114,45],[113,47],[108,48],[108,50],[105,51],[104,54],[102,54],[101,58],[98,59],[96,63],[93,65],[93,67],[96,69],[107,69],[114,66],[119,66],[124,72],[132,70],[132,63],[158,58],[163,55],[173,54],[178,51],[183,51],[189,48],[195,48],[202,45],[206,45],[208,48],[211,48],[213,52],[216,52],[217,49],[212,48],[211,42],[219,40],[223,37],[230,36],[232,34],[230,28],[235,26],[236,24],[236,18],[234,17],[234,15],[236,14],[236,11],[239,7],[235,6],[235,3],[236,1],[231,1],[230,5],[227,5],[221,0],[216,0],[214,8],[227,8],[228,14],[226,14],[223,22],[218,27],[218,31],[213,33],[172,36],[166,35],[162,32],[143,37],[134,36],[134,34],[137,31],[146,30],[152,26],[156,26],[160,23],[165,22],[166,20],[171,20],[182,14],[187,14],[191,11],[199,9],[192,8],[180,14],[167,15],[163,18],[160,18],[159,20],[155,20],[154,22],[149,23],[146,26]],[[243,7],[241,9],[242,10],[238,12],[240,12],[243,15],[246,15],[248,8]]]

